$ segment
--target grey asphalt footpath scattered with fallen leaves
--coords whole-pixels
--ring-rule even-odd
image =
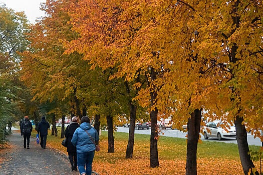
[[[31,136],[30,149],[24,148],[24,137],[20,132],[13,130],[8,135],[12,145],[0,158],[0,174],[79,174],[72,171],[69,158],[66,154],[47,146],[46,149],[37,144],[36,138]],[[49,140],[47,140],[48,142]]]

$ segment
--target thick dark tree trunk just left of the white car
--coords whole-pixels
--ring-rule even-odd
[[[196,152],[197,152],[197,143],[199,139],[200,132],[200,123],[201,123],[201,109],[195,109],[191,113],[191,117],[188,118],[187,122],[187,153],[186,153],[186,173],[190,175],[197,174],[196,168]]]

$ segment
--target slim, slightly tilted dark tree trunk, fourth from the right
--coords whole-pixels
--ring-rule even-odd
[[[137,111],[137,106],[132,103],[132,100],[130,100],[130,128],[129,128],[129,139],[126,148],[125,158],[132,158],[133,155],[136,111]]]

